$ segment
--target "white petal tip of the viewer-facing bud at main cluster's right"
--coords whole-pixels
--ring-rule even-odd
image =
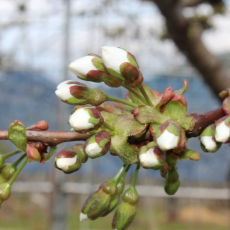
[[[177,147],[178,141],[179,137],[168,132],[167,129],[157,138],[157,144],[162,150],[174,149]]]

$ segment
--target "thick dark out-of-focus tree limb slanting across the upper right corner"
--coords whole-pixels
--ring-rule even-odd
[[[166,19],[168,32],[178,49],[200,72],[213,92],[218,93],[230,85],[230,76],[220,62],[204,46],[200,32],[191,30],[190,23],[182,14],[179,0],[154,0]]]

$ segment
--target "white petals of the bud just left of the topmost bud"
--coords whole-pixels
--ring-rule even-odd
[[[84,77],[90,70],[97,70],[93,65],[94,56],[85,56],[70,63],[70,70],[79,77]]]

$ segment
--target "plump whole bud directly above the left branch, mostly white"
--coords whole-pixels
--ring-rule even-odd
[[[80,133],[98,129],[104,122],[100,112],[89,106],[76,106],[70,115],[70,126]]]

